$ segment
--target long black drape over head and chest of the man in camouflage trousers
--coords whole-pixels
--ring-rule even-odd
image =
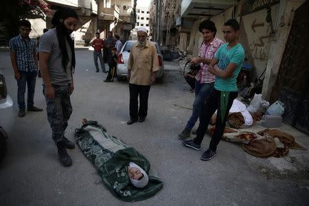
[[[71,47],[71,53],[72,53],[72,67],[71,69],[75,68],[75,52],[74,52],[74,43],[69,36],[69,33],[67,32],[67,28],[65,27],[63,21],[69,17],[74,17],[78,19],[78,14],[76,14],[76,11],[74,11],[71,8],[62,8],[55,12],[52,24],[54,27],[56,27],[56,33],[58,38],[58,44],[62,53],[62,67],[67,71],[67,64],[69,62],[69,55],[67,54],[67,44],[65,43],[65,38],[67,38],[67,41]],[[60,22],[60,19],[63,21]]]

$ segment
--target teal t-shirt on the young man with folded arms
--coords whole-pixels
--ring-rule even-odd
[[[214,88],[218,91],[237,91],[237,80],[238,73],[242,68],[242,62],[244,62],[244,48],[238,43],[237,45],[227,49],[229,44],[226,43],[221,45],[215,54],[215,58],[219,60],[218,67],[222,70],[227,68],[229,63],[237,65],[236,69],[233,71],[233,77],[223,79],[216,77]]]

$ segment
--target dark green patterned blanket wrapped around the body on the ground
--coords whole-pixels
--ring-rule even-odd
[[[134,148],[126,145],[117,137],[106,133],[98,122],[88,121],[76,129],[76,142],[84,155],[98,169],[104,185],[122,201],[142,201],[154,196],[163,183],[149,175],[149,183],[144,188],[134,187],[128,178],[128,163],[136,163],[148,174],[149,161]]]

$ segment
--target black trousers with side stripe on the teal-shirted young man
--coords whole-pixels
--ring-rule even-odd
[[[227,115],[229,115],[229,109],[233,104],[233,100],[237,98],[237,91],[231,91],[229,93],[229,98],[227,99],[227,107],[225,110],[225,114],[223,115],[223,119],[221,118],[221,91],[213,89],[209,95],[208,100],[205,102],[200,116],[200,124],[198,125],[198,130],[196,131],[196,137],[194,138],[194,143],[201,144],[203,141],[204,135],[207,130],[207,126],[211,119],[211,116],[214,115],[215,111],[217,111],[217,119],[216,119],[216,128],[214,130],[214,135],[211,137],[211,141],[209,144],[209,149],[211,151],[216,152],[217,146],[221,140],[223,132],[225,130],[225,122],[227,120]]]

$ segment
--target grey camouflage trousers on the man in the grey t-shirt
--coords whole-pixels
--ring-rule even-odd
[[[45,87],[43,93],[47,104],[47,119],[52,128],[52,137],[55,142],[63,141],[65,129],[67,128],[67,121],[72,113],[72,106],[70,100],[70,86],[56,86],[55,98],[49,100],[45,95]]]

